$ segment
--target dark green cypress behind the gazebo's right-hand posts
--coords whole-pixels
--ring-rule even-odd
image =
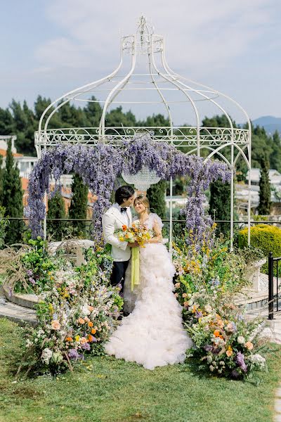
[[[216,220],[230,220],[230,184],[224,184],[221,180],[214,181],[210,185],[209,215]],[[229,236],[230,223],[218,223],[218,233]]]

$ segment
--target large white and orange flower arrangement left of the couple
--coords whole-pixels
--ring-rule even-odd
[[[81,267],[60,259],[37,305],[38,326],[25,335],[22,362],[34,373],[59,373],[86,354],[103,353],[123,300],[109,285],[111,258],[101,248],[86,252]]]

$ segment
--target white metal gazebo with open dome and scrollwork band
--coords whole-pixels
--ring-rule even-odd
[[[93,98],[93,96],[95,98]],[[100,103],[103,112],[98,127],[75,127],[50,129],[53,115],[67,103],[93,101]],[[154,113],[161,110],[169,120],[168,126],[107,127],[107,113],[112,107],[123,106],[134,113],[145,110]],[[178,110],[188,125],[175,124]],[[244,128],[233,127],[230,112],[235,110]],[[226,117],[226,127],[203,127],[204,115],[218,114]],[[102,79],[67,92],[44,110],[35,132],[37,155],[42,149],[58,143],[84,143],[94,146],[103,141],[114,146],[121,146],[123,139],[130,139],[138,133],[149,132],[153,139],[173,144],[188,154],[197,154],[208,158],[220,158],[227,163],[232,172],[230,236],[233,237],[233,196],[234,170],[237,160],[242,158],[251,168],[251,124],[245,110],[232,98],[215,89],[198,84],[178,75],[166,62],[164,37],[154,33],[148,21],[141,16],[136,34],[122,37],[121,58],[117,68]],[[250,172],[249,172],[250,174]],[[172,181],[171,181],[172,192]],[[250,188],[248,198],[248,236],[250,234]],[[172,229],[172,202],[170,201],[170,240]],[[45,234],[46,234],[46,222]]]

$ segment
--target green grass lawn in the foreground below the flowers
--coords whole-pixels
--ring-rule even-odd
[[[147,371],[112,357],[92,358],[74,373],[19,380],[11,374],[20,328],[0,319],[0,421],[264,422],[273,419],[281,347],[268,344],[260,383],[202,376],[190,366]]]

